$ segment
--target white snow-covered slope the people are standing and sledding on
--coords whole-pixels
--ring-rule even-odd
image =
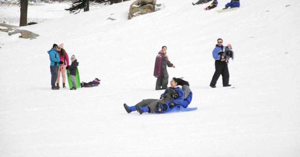
[[[165,9],[127,20],[132,2],[23,27],[35,40],[1,32],[0,156],[300,156],[297,0],[241,1],[223,13],[215,10],[226,1],[204,11],[208,4],[160,0]],[[208,86],[219,37],[235,51],[235,88],[221,78]],[[47,50],[62,42],[81,80],[98,77],[98,87],[50,90]],[[189,81],[198,110],[128,114],[123,103],[163,92],[153,77],[163,45],[176,66],[170,79]]]

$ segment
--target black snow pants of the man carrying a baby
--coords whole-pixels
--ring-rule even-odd
[[[216,71],[212,76],[212,81],[210,82],[210,86],[216,85],[217,80],[219,79],[220,75],[222,75],[223,86],[228,85],[229,71],[228,71],[228,65],[226,64],[226,62],[221,61],[221,60],[216,60],[215,68],[216,68]]]

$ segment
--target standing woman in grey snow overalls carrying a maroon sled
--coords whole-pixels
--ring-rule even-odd
[[[161,76],[156,80],[155,90],[167,89],[169,80],[167,66],[173,68],[175,68],[175,66],[169,61],[169,57],[167,56],[167,46],[163,46],[162,50],[159,51],[158,54],[163,54],[163,65],[161,69]]]

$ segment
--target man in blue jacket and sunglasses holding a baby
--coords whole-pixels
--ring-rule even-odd
[[[231,50],[231,45],[229,47],[229,50]],[[223,40],[218,39],[217,45],[215,49],[212,51],[212,57],[215,59],[215,73],[212,76],[212,81],[210,82],[211,88],[216,88],[217,80],[219,79],[220,75],[222,75],[223,80],[223,87],[229,87],[231,86],[229,83],[229,71],[228,71],[228,64],[226,62],[225,56],[222,55],[225,52],[225,46],[223,46]]]

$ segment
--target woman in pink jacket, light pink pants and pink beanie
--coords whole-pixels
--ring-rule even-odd
[[[69,56],[66,50],[63,49],[63,43],[58,45],[58,55],[59,55],[59,59],[63,61],[63,64],[60,64],[58,69],[56,87],[59,88],[59,78],[60,78],[60,73],[62,73],[63,88],[66,88],[66,67],[69,66]]]

